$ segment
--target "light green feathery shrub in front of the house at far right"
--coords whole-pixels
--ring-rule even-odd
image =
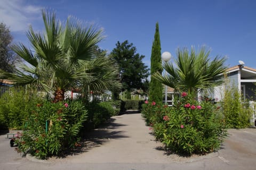
[[[222,112],[229,128],[240,129],[250,126],[253,111],[246,102],[241,102],[241,95],[234,85],[225,89]]]

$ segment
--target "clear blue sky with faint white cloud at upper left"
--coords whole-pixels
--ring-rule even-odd
[[[226,56],[226,65],[256,68],[256,1],[254,0],[179,0],[179,1],[40,1],[0,0],[0,22],[4,22],[14,42],[28,44],[25,32],[31,24],[42,31],[42,8],[51,8],[57,18],[69,15],[104,29],[105,40],[99,46],[109,52],[128,40],[145,55],[150,65],[155,24],[159,23],[162,52],[176,57],[178,47],[202,45],[211,56]]]

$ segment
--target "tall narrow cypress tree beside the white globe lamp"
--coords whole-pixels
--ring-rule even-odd
[[[161,58],[161,43],[159,35],[158,22],[156,23],[155,38],[151,50],[151,69],[150,74],[153,75],[156,72],[162,73],[162,58]],[[155,77],[151,76],[149,83],[149,101],[155,101],[161,103],[163,101],[163,85]]]

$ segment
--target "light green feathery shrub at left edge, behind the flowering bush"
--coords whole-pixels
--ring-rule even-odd
[[[0,124],[10,129],[22,129],[29,113],[42,99],[23,88],[10,88],[0,98]]]

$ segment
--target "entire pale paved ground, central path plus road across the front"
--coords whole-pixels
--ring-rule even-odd
[[[22,158],[9,147],[6,135],[0,135],[0,169],[255,169],[256,130],[230,130],[230,134],[219,152],[190,158],[165,155],[141,114],[124,114],[87,134],[82,153],[43,162]]]

